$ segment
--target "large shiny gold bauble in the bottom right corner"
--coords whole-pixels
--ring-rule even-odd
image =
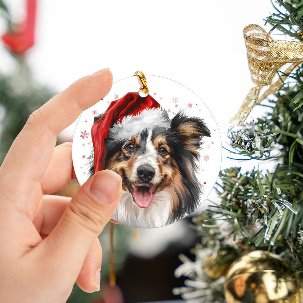
[[[268,251],[252,251],[236,260],[226,274],[227,303],[302,303],[294,271]]]

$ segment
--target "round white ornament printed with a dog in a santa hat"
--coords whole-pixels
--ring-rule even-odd
[[[148,94],[138,93],[134,75],[115,82],[82,113],[72,158],[80,185],[102,169],[122,177],[113,220],[155,228],[190,215],[205,201],[218,178],[221,138],[194,92],[168,78],[145,76]]]

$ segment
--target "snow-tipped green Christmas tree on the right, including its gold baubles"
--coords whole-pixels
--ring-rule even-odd
[[[271,31],[303,41],[303,2],[280,0],[274,8],[265,19]],[[290,62],[302,62],[299,57]],[[235,158],[277,165],[220,172],[215,190],[221,203],[193,218],[201,237],[192,249],[195,260],[181,255],[175,271],[188,279],[174,293],[189,302],[303,302],[303,65],[275,72],[268,113],[228,136]]]

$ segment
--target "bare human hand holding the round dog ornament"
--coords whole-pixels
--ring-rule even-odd
[[[83,110],[105,97],[112,73],[79,79],[33,112],[0,167],[0,302],[65,302],[75,281],[100,288],[98,235],[114,212],[122,180],[92,176],[74,198],[48,195],[75,178],[72,145],[56,138]]]

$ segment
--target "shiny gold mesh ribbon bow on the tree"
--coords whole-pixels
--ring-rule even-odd
[[[233,119],[241,125],[255,104],[259,104],[269,94],[276,92],[282,81],[287,77],[282,75],[272,83],[278,70],[287,63],[284,73],[289,74],[303,62],[303,42],[274,40],[258,25],[248,25],[243,30],[247,48],[248,66],[254,86],[248,92],[237,115]],[[269,85],[261,95],[262,87]]]

